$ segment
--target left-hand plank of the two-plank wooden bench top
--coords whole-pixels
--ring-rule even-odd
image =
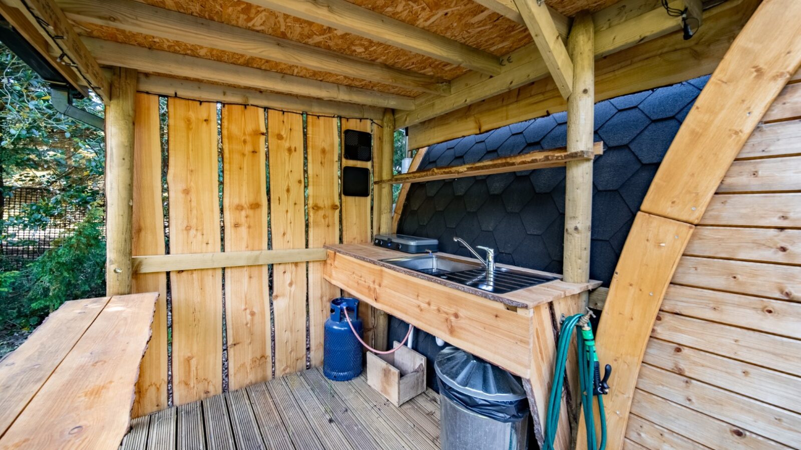
[[[0,437],[81,339],[110,297],[71,300],[0,361]]]

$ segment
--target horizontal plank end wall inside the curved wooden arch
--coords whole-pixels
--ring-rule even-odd
[[[799,88],[768,110],[678,263],[634,393],[635,444],[801,447]]]

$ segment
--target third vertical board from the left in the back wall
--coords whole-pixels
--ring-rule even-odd
[[[225,250],[267,250],[264,110],[225,105],[221,128]],[[266,264],[225,269],[228,386],[231,390],[272,377],[269,281]]]

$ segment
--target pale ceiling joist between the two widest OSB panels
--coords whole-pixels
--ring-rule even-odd
[[[425,54],[482,74],[501,73],[500,58],[345,0],[248,0],[284,14]]]

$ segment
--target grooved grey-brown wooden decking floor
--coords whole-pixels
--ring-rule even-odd
[[[429,389],[398,408],[364,375],[333,382],[312,368],[139,417],[121,448],[436,450],[439,396]]]

